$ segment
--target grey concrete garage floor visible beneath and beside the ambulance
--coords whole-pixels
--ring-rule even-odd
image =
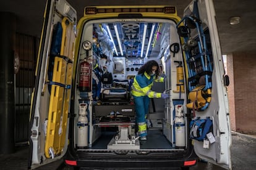
[[[231,160],[233,170],[252,170],[256,167],[256,136],[249,136],[232,132]],[[27,169],[28,165],[28,146],[19,145],[15,148],[16,152],[7,155],[0,155],[0,169]],[[47,164],[36,170],[43,169],[72,169],[64,165],[62,160]],[[82,169],[82,168],[81,168]],[[200,161],[190,170],[224,170],[214,164]]]

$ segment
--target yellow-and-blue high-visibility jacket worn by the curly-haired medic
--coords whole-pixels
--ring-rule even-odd
[[[137,97],[147,95],[149,98],[160,98],[160,92],[151,91],[153,81],[163,82],[164,78],[158,76],[158,78],[155,79],[155,75],[150,76],[146,72],[143,75],[135,76],[134,83],[132,84],[132,95]]]

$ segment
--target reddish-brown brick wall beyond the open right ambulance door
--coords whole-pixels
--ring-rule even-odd
[[[237,132],[256,134],[256,52],[233,53],[234,108]],[[232,100],[232,97],[231,97]],[[232,102],[231,102],[232,105]]]

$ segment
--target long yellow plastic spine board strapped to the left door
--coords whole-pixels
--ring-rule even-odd
[[[60,155],[66,140],[75,32],[74,23],[66,17],[62,19],[61,26],[61,48],[59,55],[54,57],[53,78],[49,81],[51,91],[45,141],[46,158]]]

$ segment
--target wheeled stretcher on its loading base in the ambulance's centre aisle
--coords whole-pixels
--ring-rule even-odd
[[[139,139],[135,138],[132,131],[135,127],[135,105],[130,101],[129,81],[116,79],[113,82],[105,82],[114,86],[104,86],[100,105],[93,106],[93,115],[99,120],[94,125],[118,127],[118,132],[110,140],[108,149],[140,149]]]

